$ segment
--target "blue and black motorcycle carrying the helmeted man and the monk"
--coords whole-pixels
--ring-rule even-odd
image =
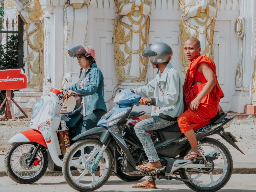
[[[208,136],[218,134],[243,153],[235,144],[235,137],[224,131],[232,123],[234,115],[228,118],[227,113],[217,115],[209,125],[195,130],[203,158],[184,159],[191,147],[177,123],[153,131],[151,137],[162,168],[145,173],[136,169],[148,159],[134,132],[134,122],[128,121],[128,117],[136,116],[136,112],[131,114],[131,110],[133,105],[139,104],[139,99],[140,96],[130,89],[119,92],[114,99],[119,108],[106,113],[97,127],[73,138],[77,142],[67,151],[62,166],[67,183],[78,191],[93,191],[104,185],[113,170],[129,181],[143,176],[181,180],[195,191],[213,192],[225,186],[233,169],[231,154],[223,143]],[[74,169],[77,171],[71,171]],[[95,176],[95,170],[99,169],[104,170],[100,177]],[[86,175],[91,177],[84,177]]]

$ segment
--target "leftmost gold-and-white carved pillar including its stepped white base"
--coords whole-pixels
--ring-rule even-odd
[[[14,99],[25,112],[30,112],[32,105],[42,96],[44,12],[39,0],[15,0],[15,6],[24,21],[24,62],[28,88],[14,92]],[[18,112],[17,108],[15,112]]]

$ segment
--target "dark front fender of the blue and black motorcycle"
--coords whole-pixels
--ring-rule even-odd
[[[87,138],[98,138],[105,146],[108,146],[111,141],[111,134],[109,130],[104,127],[94,127],[77,135],[76,137],[72,138],[72,140],[77,141]]]

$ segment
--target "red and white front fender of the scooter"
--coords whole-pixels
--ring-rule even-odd
[[[14,135],[12,138],[10,138],[8,142],[9,143],[35,142],[35,143],[39,143],[42,146],[47,147],[43,135],[39,131],[34,129],[18,133]]]

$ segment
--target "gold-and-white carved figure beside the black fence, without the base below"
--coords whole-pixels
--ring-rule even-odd
[[[27,66],[28,88],[41,89],[41,73],[43,69],[44,23],[39,0],[25,0],[22,4],[15,0],[15,6],[24,21],[24,41],[27,46],[27,57],[24,58]]]

